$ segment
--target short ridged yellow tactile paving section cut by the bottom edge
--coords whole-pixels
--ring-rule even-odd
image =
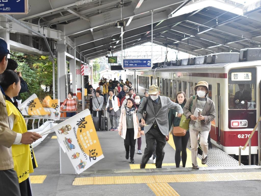
[[[156,196],[180,196],[168,183],[147,183]]]

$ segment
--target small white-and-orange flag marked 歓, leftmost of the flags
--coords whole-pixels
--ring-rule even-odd
[[[32,94],[28,99],[21,103],[18,108],[25,116],[42,116],[50,114],[50,110],[43,108],[36,94]]]

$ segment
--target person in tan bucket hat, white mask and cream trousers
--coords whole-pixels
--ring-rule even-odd
[[[200,135],[200,146],[203,150],[201,163],[206,164],[208,152],[207,138],[211,128],[211,121],[216,117],[216,111],[214,102],[207,97],[209,89],[206,81],[198,82],[194,87],[194,90],[197,91],[197,96],[191,96],[188,99],[183,108],[183,112],[187,119],[191,118],[191,121],[189,122],[189,135],[191,142],[192,168],[199,169],[197,162],[198,135]],[[197,116],[195,110],[202,112],[200,115],[197,113]]]

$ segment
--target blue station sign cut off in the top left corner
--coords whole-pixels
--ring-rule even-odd
[[[0,14],[28,14],[28,0],[0,0]]]

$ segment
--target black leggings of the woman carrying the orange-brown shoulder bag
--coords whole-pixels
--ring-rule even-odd
[[[187,144],[189,139],[189,132],[186,132],[186,135],[184,136],[173,136],[173,141],[176,147],[175,152],[175,163],[176,167],[179,167],[180,165],[180,153],[181,153],[181,159],[182,159],[182,167],[186,167],[186,161],[187,161]]]

